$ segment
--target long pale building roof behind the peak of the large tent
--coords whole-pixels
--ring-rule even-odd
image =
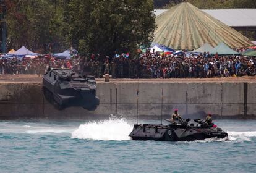
[[[168,9],[155,9],[156,16]],[[256,26],[256,9],[202,9],[203,12],[220,20],[229,27]]]

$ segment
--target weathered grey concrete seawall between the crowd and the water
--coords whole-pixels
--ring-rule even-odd
[[[100,106],[96,111],[83,108],[57,111],[46,101],[41,87],[41,83],[0,83],[0,119],[135,116],[137,106],[139,116],[160,116],[161,111],[168,115],[174,108],[181,114],[211,112],[218,116],[256,116],[255,82],[99,82]]]

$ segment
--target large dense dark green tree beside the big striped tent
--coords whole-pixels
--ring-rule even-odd
[[[102,56],[150,44],[156,27],[151,0],[70,0],[64,19],[74,48]]]

